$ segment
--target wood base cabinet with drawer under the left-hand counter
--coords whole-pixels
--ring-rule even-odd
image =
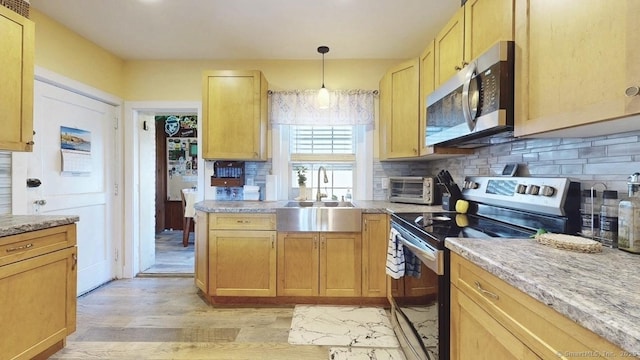
[[[0,238],[0,357],[51,356],[76,330],[75,224]]]

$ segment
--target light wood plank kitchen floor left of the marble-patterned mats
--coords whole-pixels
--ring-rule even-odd
[[[287,343],[292,307],[213,308],[192,278],[116,280],[78,298],[78,329],[51,359],[327,360]]]

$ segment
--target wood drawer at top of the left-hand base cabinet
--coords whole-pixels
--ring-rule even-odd
[[[76,245],[76,225],[0,237],[0,266]]]

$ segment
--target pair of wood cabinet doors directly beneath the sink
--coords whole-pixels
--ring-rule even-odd
[[[278,233],[278,296],[359,297],[360,233]]]

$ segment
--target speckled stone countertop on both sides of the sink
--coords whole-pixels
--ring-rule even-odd
[[[287,204],[283,201],[216,201],[205,200],[195,203],[196,210],[217,213],[217,212],[249,212],[249,213],[271,213],[277,208],[283,208]],[[354,200],[353,205],[362,209],[363,213],[394,213],[394,212],[436,212],[442,211],[441,205],[414,205],[401,204],[389,201],[375,200]]]

